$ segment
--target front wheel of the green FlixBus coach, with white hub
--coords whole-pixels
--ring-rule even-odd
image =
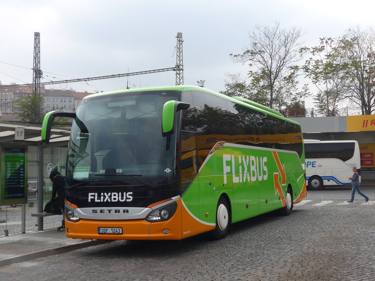
[[[228,202],[220,197],[216,207],[216,227],[211,232],[211,238],[215,240],[225,238],[231,224],[231,214]]]

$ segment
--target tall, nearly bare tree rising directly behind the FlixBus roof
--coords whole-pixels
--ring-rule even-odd
[[[243,53],[230,54],[234,62],[249,63],[250,85],[256,87],[255,92],[267,95],[270,108],[274,108],[276,88],[284,85],[281,82],[284,77],[290,76],[289,66],[301,59],[298,42],[301,36],[300,28],[281,29],[278,22],[272,28],[256,25],[249,33],[250,43]],[[279,88],[278,94],[282,92]]]

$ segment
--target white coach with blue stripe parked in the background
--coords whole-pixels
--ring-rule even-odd
[[[357,167],[357,172],[361,175],[357,141],[304,139],[303,142],[308,190],[320,190],[325,185],[351,184],[348,177],[353,176],[353,167]]]

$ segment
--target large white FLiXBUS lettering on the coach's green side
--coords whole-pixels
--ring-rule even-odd
[[[266,180],[267,157],[255,157],[248,155],[223,155],[224,184],[227,175],[232,175],[233,183]]]

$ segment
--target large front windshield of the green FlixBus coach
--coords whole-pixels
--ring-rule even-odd
[[[71,130],[68,186],[102,180],[148,186],[172,183],[175,134],[162,136],[162,109],[178,95],[148,91],[83,100]]]

